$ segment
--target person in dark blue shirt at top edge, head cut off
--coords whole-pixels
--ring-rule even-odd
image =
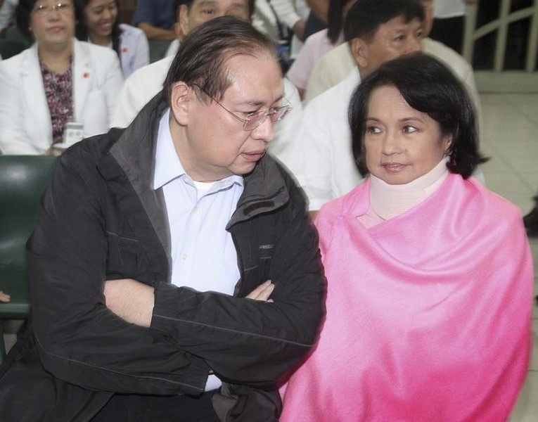
[[[138,0],[133,25],[143,30],[148,39],[171,41],[176,37],[174,25],[175,0]]]

